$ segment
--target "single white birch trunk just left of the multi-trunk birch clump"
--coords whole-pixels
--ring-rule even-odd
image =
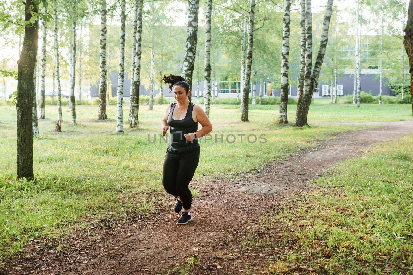
[[[284,19],[282,29],[281,50],[281,89],[280,89],[280,111],[278,123],[287,124],[287,101],[288,101],[288,55],[290,53],[290,0],[284,0]]]

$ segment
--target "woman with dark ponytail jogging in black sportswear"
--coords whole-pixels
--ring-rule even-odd
[[[189,183],[194,176],[199,162],[200,146],[198,139],[212,131],[212,125],[204,110],[190,102],[190,87],[180,75],[164,76],[164,84],[169,84],[176,102],[166,108],[161,121],[162,135],[168,129],[170,135],[162,171],[162,184],[166,192],[177,197],[175,212],[182,209],[182,216],[176,224],[187,224],[192,221],[192,194]],[[202,128],[198,131],[198,122]]]

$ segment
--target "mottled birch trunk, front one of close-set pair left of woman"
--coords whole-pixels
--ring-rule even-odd
[[[140,57],[142,54],[142,13],[143,13],[143,0],[136,0],[138,5],[138,17],[136,26],[136,53],[135,53],[135,75],[133,78],[133,98],[132,98],[132,110],[131,110],[131,122],[129,127],[139,128],[139,85],[140,85]]]

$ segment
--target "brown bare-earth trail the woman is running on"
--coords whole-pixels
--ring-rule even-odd
[[[194,219],[185,226],[175,224],[179,215],[173,212],[173,197],[159,192],[160,203],[155,206],[159,216],[135,217],[122,226],[112,221],[109,228],[91,228],[90,235],[76,231],[60,243],[68,246],[53,254],[47,253],[52,248],[39,250],[35,248],[38,243],[28,244],[27,254],[15,259],[14,266],[6,264],[6,272],[164,274],[176,268],[171,272],[176,274],[193,256],[200,263],[190,269],[191,274],[238,274],[246,269],[264,273],[273,251],[246,249],[243,232],[262,223],[262,215],[282,209],[286,195],[306,190],[311,180],[335,162],[361,155],[372,143],[413,133],[411,121],[380,125],[338,134],[337,139],[322,141],[315,148],[269,162],[265,168],[235,179],[192,183],[199,189],[199,197],[192,203]],[[280,228],[275,227],[271,237],[276,238]],[[13,268],[16,266],[21,269]]]

